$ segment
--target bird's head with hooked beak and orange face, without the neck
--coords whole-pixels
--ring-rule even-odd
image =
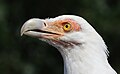
[[[44,40],[55,47],[67,48],[101,39],[86,20],[74,15],[45,20],[30,19],[21,28],[23,34]]]

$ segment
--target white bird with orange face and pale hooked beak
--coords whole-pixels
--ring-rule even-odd
[[[21,36],[45,41],[61,53],[64,74],[117,74],[108,62],[103,38],[82,17],[60,15],[31,18],[21,27]]]

